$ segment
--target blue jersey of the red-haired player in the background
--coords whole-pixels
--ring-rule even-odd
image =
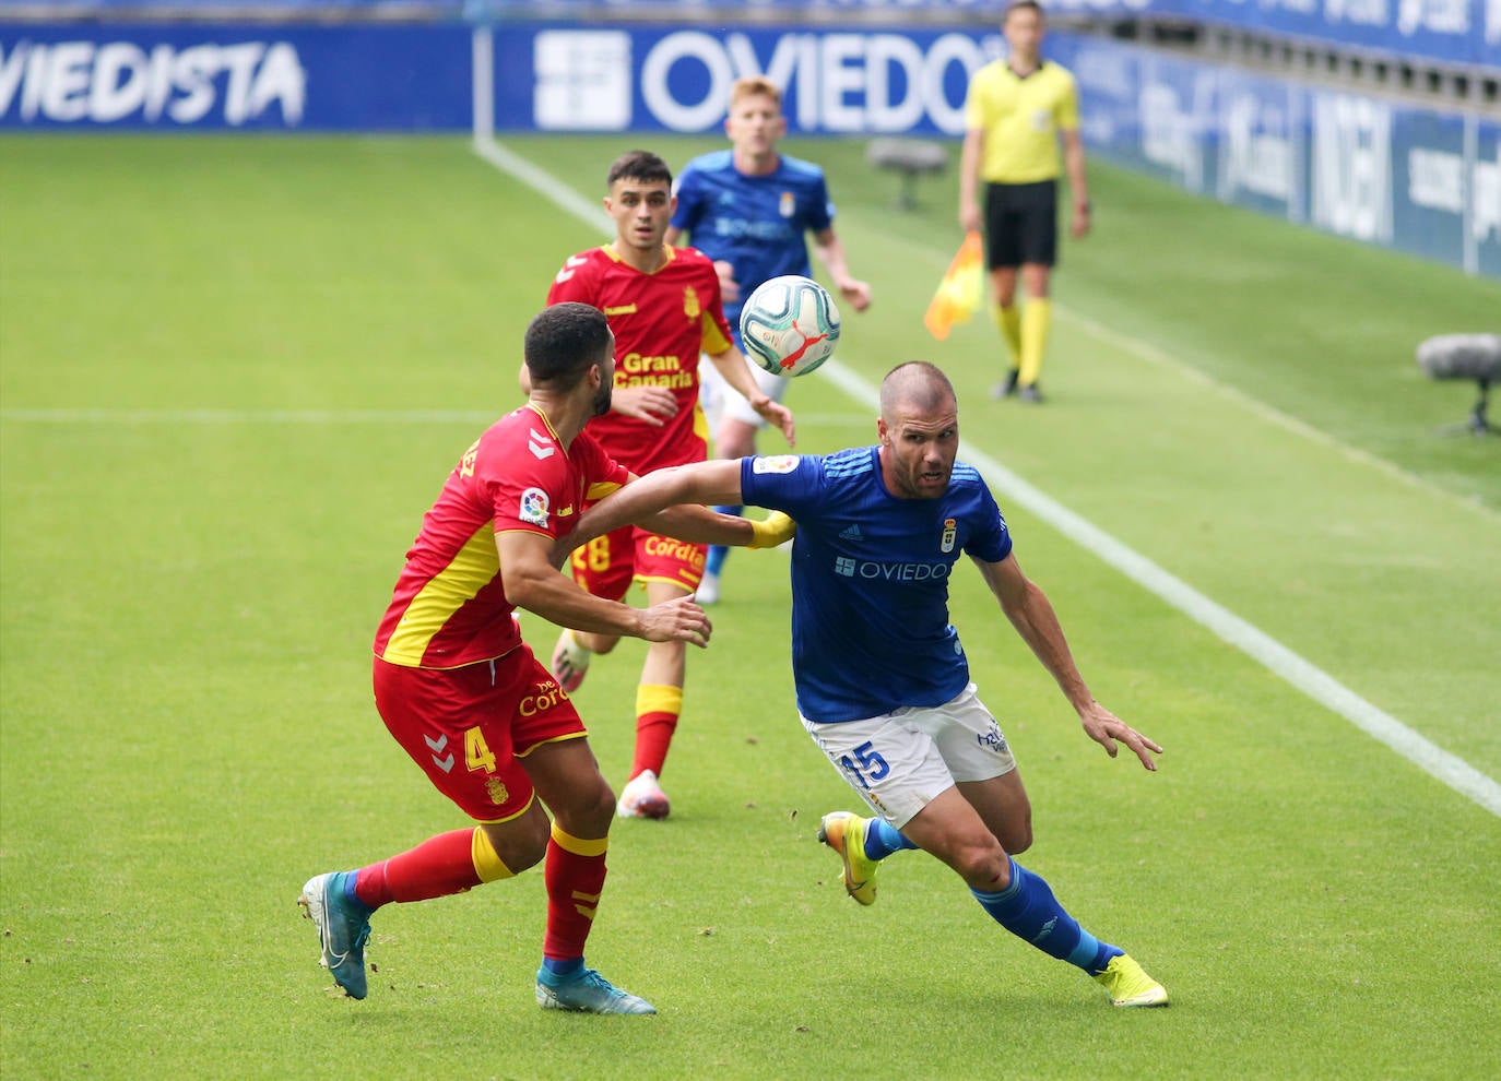
[[[740,303],[773,277],[812,277],[806,234],[823,232],[833,219],[824,171],[787,154],[775,172],[747,177],[732,151],[716,150],[690,160],[677,178],[672,225],[710,259],[734,267],[740,300],[725,303],[725,316],[737,345]]]

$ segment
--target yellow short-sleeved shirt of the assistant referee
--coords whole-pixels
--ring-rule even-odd
[[[1079,91],[1067,67],[1043,60],[1018,78],[994,60],[970,79],[964,126],[985,130],[980,177],[992,184],[1030,184],[1063,172],[1058,132],[1079,127]]]

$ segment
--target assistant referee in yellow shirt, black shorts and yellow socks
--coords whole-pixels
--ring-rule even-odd
[[[1090,190],[1078,88],[1066,67],[1042,58],[1042,7],[1036,0],[1016,0],[1006,9],[1001,33],[1010,55],[974,73],[964,103],[959,225],[967,232],[983,225],[995,322],[1010,352],[1010,370],[994,397],[1042,402],[1037,375],[1052,321],[1048,277],[1058,259],[1058,175],[1067,168],[1075,237],[1090,231]],[[1027,291],[1021,309],[1018,271]]]

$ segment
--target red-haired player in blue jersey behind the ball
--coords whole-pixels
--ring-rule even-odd
[[[735,346],[740,346],[740,304],[758,285],[782,274],[812,277],[809,232],[845,310],[868,309],[871,286],[851,277],[845,265],[824,171],[776,150],[778,139],[787,133],[782,93],[776,85],[761,76],[737,79],[729,91],[725,133],[729,150],[695,157],[678,177],[677,210],[666,243],[678,243],[686,232],[693,247],[714,261]],[[714,457],[754,454],[755,433],[766,421],[717,378],[713,364],[701,372]],[[781,402],[791,381],[760,369],[755,375],[761,390]],[[722,510],[738,513],[737,507]],[[725,553],[722,546],[708,550],[704,579],[695,594],[701,604],[719,600]]]

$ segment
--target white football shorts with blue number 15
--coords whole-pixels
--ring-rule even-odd
[[[1016,769],[974,684],[941,706],[838,724],[799,718],[850,787],[898,829],[955,781],[988,781]]]

